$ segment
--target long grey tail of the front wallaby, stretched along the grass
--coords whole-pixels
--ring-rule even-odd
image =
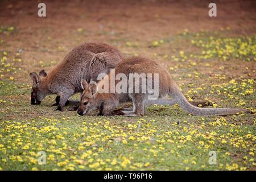
[[[200,108],[193,106],[187,101],[184,94],[180,91],[179,86],[177,86],[175,82],[172,82],[172,87],[170,88],[170,96],[174,98],[181,109],[192,115],[228,115],[240,113],[241,111],[250,113],[250,111],[246,109]]]

